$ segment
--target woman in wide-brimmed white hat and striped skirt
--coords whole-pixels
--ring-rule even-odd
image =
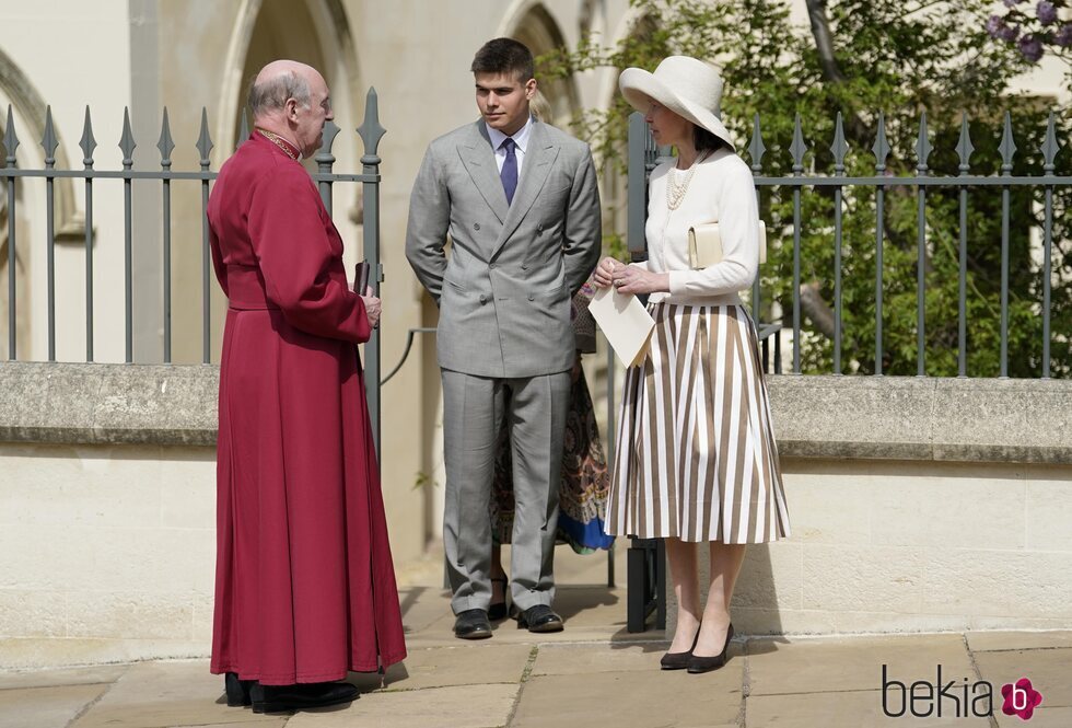
[[[748,166],[719,118],[722,79],[685,56],[618,82],[659,146],[677,150],[652,171],[648,261],[604,258],[597,286],[650,293],[645,361],[629,369],[621,403],[607,532],[665,539],[677,628],[664,669],[725,663],[730,599],[745,544],[784,539],[789,513],[756,330],[738,291],[759,267],[759,216]],[[721,262],[689,266],[688,231],[718,222]],[[710,544],[700,608],[697,543]]]

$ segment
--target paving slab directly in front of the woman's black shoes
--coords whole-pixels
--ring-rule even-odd
[[[700,675],[654,669],[538,675],[525,683],[510,726],[735,726],[743,678],[744,660]]]

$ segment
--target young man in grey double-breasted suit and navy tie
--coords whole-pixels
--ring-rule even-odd
[[[443,542],[454,633],[479,639],[491,636],[488,506],[496,439],[508,425],[511,598],[520,626],[562,629],[551,603],[574,361],[570,299],[598,262],[602,232],[587,145],[532,117],[528,48],[489,41],[470,70],[481,118],[429,146],[410,198],[406,257],[440,307]]]

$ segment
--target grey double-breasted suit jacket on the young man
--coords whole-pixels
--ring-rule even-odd
[[[570,369],[570,299],[601,245],[587,145],[534,122],[508,207],[482,120],[433,141],[410,197],[406,257],[440,307],[440,367],[502,378]]]

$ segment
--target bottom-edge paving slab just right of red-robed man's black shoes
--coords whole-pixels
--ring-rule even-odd
[[[366,693],[347,709],[299,713],[287,728],[498,728],[510,719],[520,689],[455,685]]]

